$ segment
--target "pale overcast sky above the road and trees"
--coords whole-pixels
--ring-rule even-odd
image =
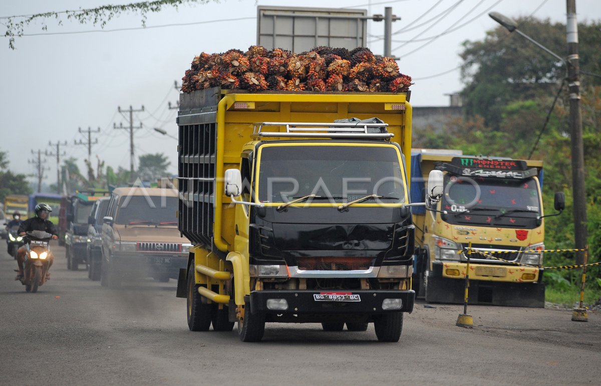
[[[5,0],[0,17],[129,2],[132,1]],[[174,81],[181,83],[184,72],[200,52],[246,50],[255,44],[257,5],[355,8],[368,10],[368,14],[383,14],[385,7],[392,7],[392,12],[401,17],[392,24],[392,31],[411,24],[392,37],[392,54],[401,58],[401,72],[413,77],[411,103],[418,107],[448,106],[445,94],[462,89],[457,68],[461,64],[461,43],[481,40],[486,31],[495,28],[496,23],[487,16],[490,11],[511,17],[532,14],[540,19],[563,23],[566,20],[565,0],[221,0],[184,5],[178,10],[167,7],[160,13],[148,14],[146,23],[148,27],[193,23],[186,26],[139,29],[138,14],[111,20],[105,32],[84,33],[102,29],[64,17],[63,25],[48,20],[47,31],[39,23],[29,25],[25,34],[43,35],[17,37],[16,50],[8,48],[8,38],[0,39],[0,150],[8,151],[11,169],[33,173],[34,168],[28,163],[33,157],[31,151],[55,151],[55,147],[48,146],[49,141],[67,141],[68,146],[61,151],[67,151],[67,157],[79,158],[84,172],[87,146],[73,145],[75,140],[87,140],[78,133],[79,127],[100,127],[100,133],[92,136],[93,141],[98,140],[92,146],[94,160],[97,155],[108,166],[129,169],[129,130],[115,130],[113,124],[129,125],[129,114],[120,114],[118,106],[140,109],[144,105],[144,112],[134,113],[135,125],[142,122],[143,126],[135,131],[136,166],[138,155],[163,152],[171,161],[169,171],[175,173],[177,141],[152,130],[159,127],[177,137],[177,110],[168,109],[169,102],[173,105],[178,101]],[[599,0],[577,0],[576,7],[579,22],[601,19]],[[446,10],[446,16],[426,23]],[[4,22],[0,19],[0,23]],[[112,29],[127,30],[110,32]],[[450,29],[455,30],[447,32]],[[382,33],[383,23],[368,22],[368,47],[379,55],[383,53]],[[523,44],[529,43],[523,40]],[[45,158],[49,167],[45,182],[53,183],[56,160]]]

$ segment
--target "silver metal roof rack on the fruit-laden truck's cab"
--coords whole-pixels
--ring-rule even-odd
[[[285,127],[286,131],[263,131],[266,126]],[[251,137],[391,139],[394,134],[386,127],[386,123],[256,122]]]

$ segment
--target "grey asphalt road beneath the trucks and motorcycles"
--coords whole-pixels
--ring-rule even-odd
[[[67,271],[54,246],[52,279],[37,294],[15,282],[0,244],[0,385],[549,385],[601,384],[601,315],[418,303],[401,340],[331,333],[316,324],[267,324],[261,343],[192,333],[175,280],[121,290]]]

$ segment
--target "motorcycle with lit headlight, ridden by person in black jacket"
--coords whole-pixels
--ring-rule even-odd
[[[52,235],[44,231],[27,232],[26,242],[29,243],[29,248],[25,255],[23,277],[20,279],[27,292],[37,292],[38,286],[46,282],[46,274],[53,261],[50,238]]]

